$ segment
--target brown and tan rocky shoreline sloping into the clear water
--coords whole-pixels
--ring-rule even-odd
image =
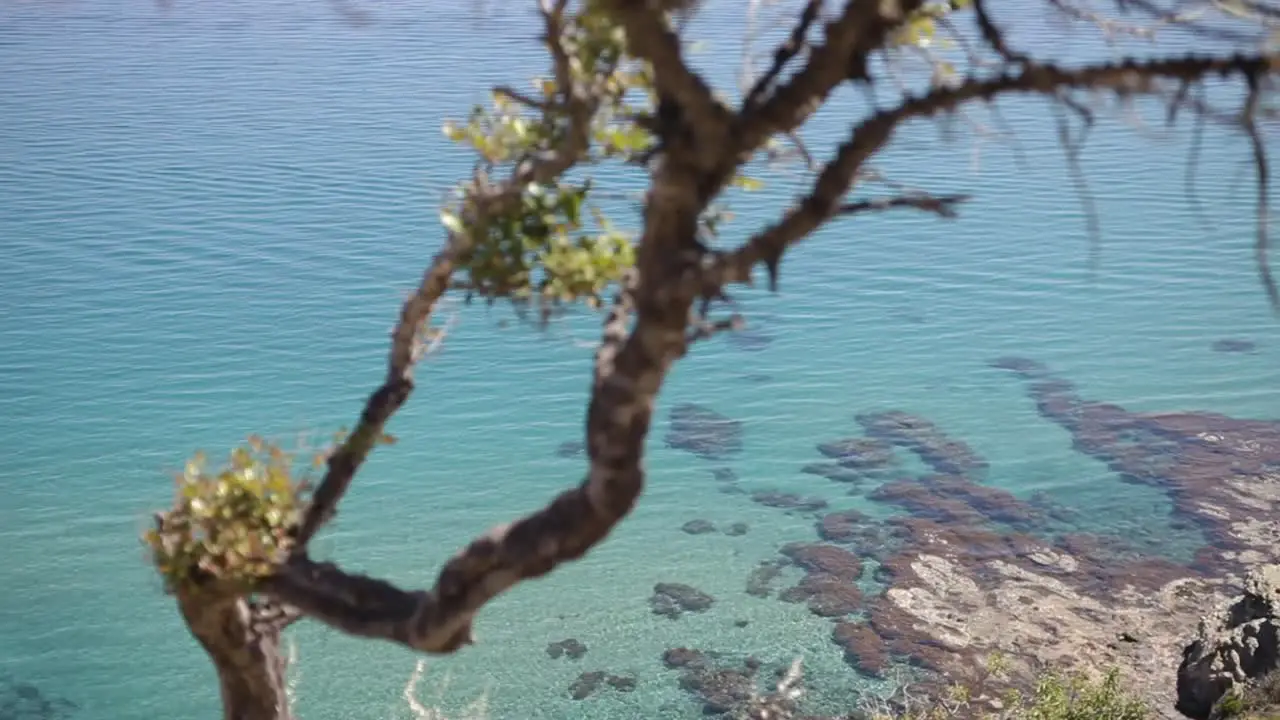
[[[858,415],[864,437],[819,445],[826,461],[803,470],[901,511],[887,519],[832,511],[822,498],[746,492],[730,469],[716,470],[724,492],[815,520],[819,542],[790,543],[762,561],[745,592],[829,618],[832,642],[858,673],[925,670],[925,693],[974,682],[983,660],[1000,653],[1007,682],[1021,687],[1044,666],[1119,667],[1157,717],[1181,717],[1179,665],[1201,619],[1239,596],[1251,569],[1280,561],[1280,421],[1134,413],[1083,397],[1034,360],[991,365],[1024,382],[1039,414],[1117,483],[1164,492],[1172,521],[1203,536],[1194,556],[1152,556],[1119,537],[1071,530],[1069,510],[983,484],[987,461],[961,439],[888,411]],[[677,415],[672,447],[721,460],[741,447],[740,424],[701,407]],[[896,452],[914,454],[932,473],[904,474]],[[804,579],[777,591],[787,565]],[[1217,652],[1215,641],[1198,642],[1202,655]]]

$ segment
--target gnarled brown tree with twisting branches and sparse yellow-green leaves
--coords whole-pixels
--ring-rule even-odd
[[[1055,12],[1119,26],[1066,0]],[[1151,0],[1121,9],[1153,23],[1179,22],[1229,33],[1193,14],[1172,14]],[[753,5],[754,6],[754,5]],[[1224,6],[1257,23],[1277,13],[1257,3]],[[192,634],[212,660],[228,720],[287,720],[280,637],[310,618],[352,635],[390,641],[424,653],[451,653],[471,642],[484,605],[525,579],[581,557],[630,512],[645,482],[644,445],[654,400],[672,365],[701,338],[732,331],[740,318],[717,318],[733,286],[763,266],[776,287],[786,252],[826,223],[863,213],[915,209],[954,217],[964,196],[905,191],[850,199],[877,181],[870,163],[904,123],[1039,95],[1089,123],[1076,94],[1119,99],[1149,95],[1198,122],[1226,120],[1252,138],[1258,170],[1257,255],[1272,302],[1266,261],[1267,158],[1257,128],[1268,110],[1267,83],[1280,54],[1130,59],[1065,67],[1016,47],[984,0],[808,0],[786,41],[760,73],[745,74],[736,100],[717,95],[686,60],[682,22],[695,3],[672,0],[540,0],[549,73],[534,90],[497,87],[449,137],[474,146],[475,172],[442,210],[447,240],[406,300],[392,333],[387,377],[349,433],[317,460],[312,489],[292,457],[251,437],[228,464],[188,462],[174,505],[146,534],[155,565]],[[973,32],[961,27],[973,23]],[[933,54],[929,38],[952,37]],[[927,73],[901,81],[890,104],[868,110],[831,159],[812,168],[808,191],[768,227],[722,246],[717,205],[732,184],[750,187],[746,167],[792,154],[809,160],[799,131],[841,86],[877,91],[902,69],[904,49],[928,46]],[[959,60],[956,60],[959,58]],[[965,72],[954,69],[968,63]],[[920,73],[915,73],[920,74]],[[1210,106],[1199,90],[1211,77],[1239,82],[1235,113]],[[1064,129],[1064,145],[1074,150]],[[648,174],[643,228],[616,229],[596,204],[590,168],[626,163]],[[573,179],[586,170],[588,179]],[[585,478],[543,510],[494,528],[462,548],[433,588],[406,591],[310,557],[308,544],[329,523],[361,464],[415,388],[417,360],[439,340],[433,313],[447,292],[507,301],[548,318],[582,302],[603,306],[585,423]]]

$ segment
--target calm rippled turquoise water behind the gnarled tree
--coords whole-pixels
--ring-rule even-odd
[[[728,5],[703,18],[708,67],[736,61]],[[0,3],[0,676],[68,698],[74,717],[215,716],[209,664],[134,539],[146,512],[168,502],[168,473],[195,448],[355,419],[398,302],[439,241],[440,192],[470,167],[440,122],[541,61],[529,13],[393,3],[362,24],[342,10],[355,17],[288,1]],[[1087,36],[1034,32],[1041,47],[1097,50]],[[844,132],[854,101],[819,118],[815,146]],[[698,347],[662,416],[699,402],[741,419],[745,451],[730,465],[746,487],[842,509],[868,501],[799,469],[818,460],[815,443],[855,434],[855,413],[904,409],[973,445],[995,486],[1050,493],[1087,510],[1092,529],[1192,542],[1169,529],[1162,495],[1074,452],[986,361],[1034,357],[1137,410],[1276,415],[1280,328],[1251,259],[1248,149],[1210,138],[1197,218],[1185,128],[1147,133],[1156,140],[1096,128],[1083,164],[1103,243],[1091,274],[1043,105],[1004,113],[1023,164],[1007,143],[975,156],[961,124],[948,145],[911,128],[881,163],[931,190],[977,192],[960,222],[893,214],[824,229],[788,258],[781,293],[742,295],[774,341]],[[771,184],[731,228],[758,225],[786,197]],[[554,450],[581,427],[590,350],[579,341],[594,340],[595,320],[539,333],[503,325],[500,309],[451,311],[447,346],[393,423],[401,442],[378,452],[317,543],[402,584],[430,582],[471,536],[582,473]],[[1212,352],[1225,337],[1258,351]],[[865,684],[828,641],[829,621],[744,593],[759,560],[813,539],[812,520],[722,495],[714,465],[663,447],[664,429],[652,433],[634,516],[585,561],[485,609],[476,647],[430,662],[428,698],[452,678],[445,706],[485,694],[494,717],[694,717],[659,662],[678,644],[803,655],[817,708]],[[681,533],[695,518],[751,530]],[[646,598],[667,580],[717,603],[658,618]],[[590,647],[586,659],[547,657],[566,637]],[[412,655],[316,625],[294,638],[303,717],[407,715]],[[595,667],[635,674],[636,692],[570,700],[568,683]]]

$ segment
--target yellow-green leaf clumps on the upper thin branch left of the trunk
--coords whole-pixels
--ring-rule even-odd
[[[445,123],[445,137],[480,155],[490,174],[526,158],[562,152],[570,95],[575,101],[582,94],[591,99],[590,147],[582,163],[631,161],[653,147],[652,133],[635,122],[652,106],[652,73],[626,58],[626,33],[609,13],[585,3],[558,41],[573,94],[559,86],[563,73],[538,77],[529,96],[495,91],[466,122]],[[489,210],[480,220],[467,211],[472,187],[462,190],[462,197],[440,213],[440,223],[449,233],[470,233],[471,251],[458,263],[468,297],[534,302],[544,311],[575,301],[594,307],[635,263],[630,236],[602,222],[590,183],[557,179],[527,186],[518,204],[506,206],[500,217]]]

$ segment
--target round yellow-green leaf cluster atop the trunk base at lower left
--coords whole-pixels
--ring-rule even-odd
[[[250,437],[216,470],[197,454],[175,484],[174,506],[143,534],[169,592],[210,580],[251,588],[287,555],[306,487],[278,446]]]

